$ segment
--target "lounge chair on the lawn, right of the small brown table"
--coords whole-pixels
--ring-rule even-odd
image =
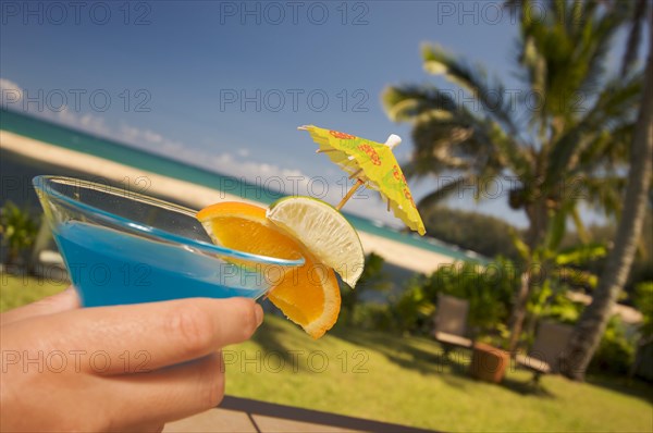
[[[559,358],[574,327],[570,325],[541,322],[533,346],[528,355],[517,354],[517,364],[526,367],[533,372],[533,382],[539,382],[542,374],[557,373],[559,371]]]

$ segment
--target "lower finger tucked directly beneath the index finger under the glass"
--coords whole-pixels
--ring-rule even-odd
[[[150,373],[101,380],[107,395],[124,396],[110,409],[114,411],[111,418],[120,417],[123,425],[156,425],[186,418],[218,406],[224,395],[219,352]]]

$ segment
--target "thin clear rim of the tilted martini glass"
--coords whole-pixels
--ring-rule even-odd
[[[82,178],[57,176],[57,175],[39,175],[39,176],[35,176],[32,180],[32,184],[34,185],[34,188],[41,191],[42,194],[50,196],[50,197],[54,197],[54,198],[57,198],[70,206],[73,206],[75,208],[79,208],[84,211],[91,212],[95,215],[99,216],[101,220],[111,222],[112,224],[115,224],[119,227],[125,228],[126,231],[132,232],[132,233],[137,232],[137,233],[141,233],[141,234],[146,234],[149,237],[159,238],[161,242],[165,242],[169,244],[170,244],[170,242],[173,242],[175,244],[196,248],[202,252],[209,252],[211,255],[226,256],[226,257],[231,257],[234,259],[248,260],[251,262],[258,262],[260,264],[278,264],[281,267],[300,267],[306,262],[304,257],[301,257],[297,260],[280,259],[280,258],[271,257],[271,256],[262,256],[262,255],[256,255],[256,253],[251,253],[251,252],[245,252],[245,251],[241,251],[237,249],[222,247],[222,246],[215,245],[215,244],[209,244],[204,240],[197,240],[197,239],[192,239],[189,237],[176,235],[174,233],[170,233],[168,231],[157,228],[152,225],[138,223],[136,221],[132,221],[124,216],[120,216],[115,213],[96,208],[95,206],[90,206],[83,201],[76,200],[73,197],[66,196],[65,194],[61,194],[61,193],[54,190],[53,188],[47,189],[47,188],[45,188],[45,184],[48,182],[60,183],[60,184],[64,184],[64,185],[79,186],[79,187],[84,187],[87,189],[97,190],[100,193],[111,194],[114,196],[120,196],[120,197],[124,197],[124,198],[128,198],[128,199],[136,199],[137,201],[144,202],[146,205],[157,206],[159,208],[164,208],[168,210],[176,211],[178,213],[183,213],[183,214],[185,214],[187,216],[192,216],[192,218],[195,218],[195,214],[197,213],[197,211],[195,211],[190,208],[186,208],[181,205],[161,200],[159,198],[146,196],[140,193],[126,191],[124,188],[119,188],[119,187],[114,187],[111,185],[102,185],[102,184],[99,184],[96,182],[85,181]]]

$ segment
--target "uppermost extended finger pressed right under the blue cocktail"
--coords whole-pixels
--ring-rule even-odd
[[[262,310],[251,299],[192,298],[78,309],[15,326],[26,341],[49,335],[48,349],[81,354],[85,371],[124,374],[197,359],[243,342],[261,321]]]

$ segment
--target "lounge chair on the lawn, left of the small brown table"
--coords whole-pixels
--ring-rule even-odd
[[[433,318],[433,338],[448,355],[453,347],[471,349],[473,342],[467,337],[469,302],[448,295],[438,296],[438,310]]]

